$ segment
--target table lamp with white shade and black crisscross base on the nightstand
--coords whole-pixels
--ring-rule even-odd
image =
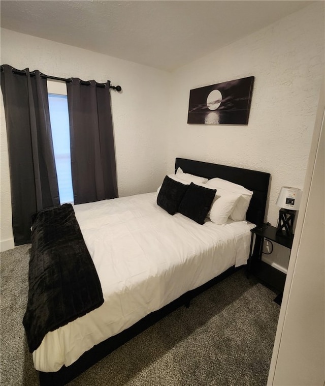
[[[292,236],[294,233],[294,221],[296,211],[299,210],[302,191],[298,188],[290,188],[288,186],[282,186],[276,205],[280,206],[279,211],[279,223],[277,227],[277,233],[283,234],[283,230],[286,236]]]

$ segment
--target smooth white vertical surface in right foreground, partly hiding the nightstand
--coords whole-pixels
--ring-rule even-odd
[[[323,84],[324,86],[324,84]],[[322,88],[268,385],[325,383],[325,89]]]

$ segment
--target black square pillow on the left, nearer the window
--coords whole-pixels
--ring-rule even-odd
[[[187,188],[188,185],[175,181],[166,175],[157,196],[157,204],[170,215],[175,215]]]

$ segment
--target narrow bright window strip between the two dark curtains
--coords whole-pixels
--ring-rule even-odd
[[[59,90],[60,94],[58,94],[55,89],[55,93],[51,93],[53,85],[50,83],[55,82],[48,81],[48,99],[60,203],[74,203],[71,177],[69,112],[66,85],[63,84],[65,92],[64,89]]]

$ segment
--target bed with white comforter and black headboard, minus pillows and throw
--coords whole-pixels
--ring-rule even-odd
[[[41,385],[68,383],[246,264],[250,229],[264,222],[270,174],[183,158],[176,159],[179,168],[250,190],[245,221],[199,225],[171,216],[157,205],[157,192],[75,205],[104,303],[45,335],[33,352]]]

